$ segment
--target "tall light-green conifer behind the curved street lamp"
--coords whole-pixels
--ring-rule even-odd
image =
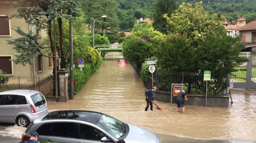
[[[103,36],[105,32],[105,36],[109,38],[111,43],[118,41],[119,19],[117,17],[117,3],[114,0],[82,0],[81,7],[88,18],[87,23],[91,23],[91,25],[93,25],[92,17],[96,19],[106,15],[106,18],[95,21],[95,33]]]

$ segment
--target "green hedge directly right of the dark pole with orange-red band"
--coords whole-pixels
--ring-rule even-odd
[[[90,64],[84,65],[83,71],[80,68],[74,69],[74,94],[77,94],[92,75]]]

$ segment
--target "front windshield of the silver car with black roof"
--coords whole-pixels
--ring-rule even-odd
[[[112,135],[116,139],[124,135],[126,131],[126,126],[123,122],[118,121],[117,119],[105,114],[101,116],[100,120],[96,125],[110,133],[110,135]]]

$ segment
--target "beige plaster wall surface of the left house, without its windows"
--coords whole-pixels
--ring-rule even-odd
[[[14,14],[16,13],[16,9],[13,7],[12,4],[8,3],[1,3],[0,4],[0,15],[5,14]],[[24,19],[15,19],[12,18],[10,20],[11,28],[14,28],[14,26],[20,26],[24,32],[29,32],[31,27],[25,23]],[[0,23],[1,24],[1,23]],[[33,33],[35,34],[35,26],[33,26]],[[42,40],[45,38],[47,34],[45,31],[41,31],[41,38],[39,40]],[[15,59],[15,55],[18,55],[18,53],[15,52],[13,49],[13,45],[6,44],[7,42],[5,39],[13,39],[17,38],[19,35],[11,29],[11,37],[0,37],[0,56],[3,55],[10,55]],[[52,68],[49,68],[49,62],[47,57],[43,57],[42,63],[43,63],[43,71],[38,72],[38,64],[37,64],[37,58],[35,58],[35,76],[40,76],[40,80],[43,80],[49,74],[52,73]],[[20,77],[20,84],[26,84],[26,85],[32,85],[34,83],[33,81],[33,66],[26,64],[26,66],[23,65],[16,65],[13,63],[13,75],[10,75],[10,80],[8,84],[18,84],[18,77]]]

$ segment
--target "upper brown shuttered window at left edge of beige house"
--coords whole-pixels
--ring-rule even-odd
[[[8,16],[0,15],[0,36],[11,36]]]

